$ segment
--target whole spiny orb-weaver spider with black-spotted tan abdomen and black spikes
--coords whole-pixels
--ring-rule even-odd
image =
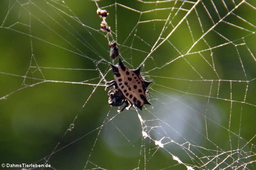
[[[108,93],[108,103],[112,106],[121,106],[125,102],[125,106],[120,110],[123,111],[129,104],[129,109],[133,104],[142,109],[144,104],[150,104],[147,100],[146,90],[151,82],[145,81],[140,75],[140,68],[136,70],[128,69],[119,58],[119,63],[111,65],[114,79],[107,82],[106,88],[114,86]],[[150,104],[151,105],[151,104]]]

